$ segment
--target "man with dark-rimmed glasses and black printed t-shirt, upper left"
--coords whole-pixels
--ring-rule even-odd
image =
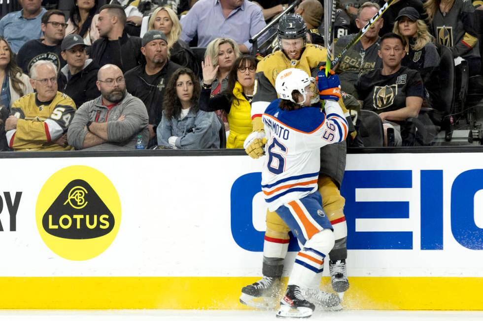
[[[61,42],[66,34],[66,17],[60,10],[49,10],[42,16],[43,39],[27,41],[18,51],[17,64],[25,74],[38,60],[50,60],[57,70],[64,67],[66,60],[61,56]]]

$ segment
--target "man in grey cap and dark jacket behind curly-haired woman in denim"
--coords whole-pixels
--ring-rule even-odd
[[[125,73],[126,89],[146,105],[149,115],[148,148],[157,145],[156,126],[161,121],[162,102],[168,81],[180,65],[169,60],[168,40],[163,32],[150,30],[141,41],[146,62]]]

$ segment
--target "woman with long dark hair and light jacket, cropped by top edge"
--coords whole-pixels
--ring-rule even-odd
[[[99,39],[99,30],[96,28],[99,14],[98,0],[73,0],[67,22],[66,36],[72,33],[80,35],[86,45],[92,45]]]

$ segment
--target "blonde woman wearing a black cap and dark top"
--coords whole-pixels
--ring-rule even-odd
[[[433,36],[429,34],[417,10],[413,7],[401,9],[394,23],[393,32],[403,38],[403,44],[406,46],[406,56],[401,64],[419,71],[423,82],[427,84],[431,71],[439,65],[440,56],[432,43]]]

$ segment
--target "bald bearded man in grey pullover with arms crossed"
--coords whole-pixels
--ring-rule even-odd
[[[84,103],[75,113],[68,131],[69,145],[84,150],[135,149],[139,134],[146,145],[146,107],[126,91],[121,69],[104,65],[99,69],[96,85],[101,96]]]

